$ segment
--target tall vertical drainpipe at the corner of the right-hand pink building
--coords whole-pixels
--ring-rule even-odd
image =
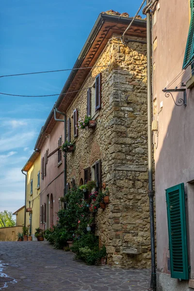
[[[149,0],[146,0],[149,3]],[[150,10],[146,13],[147,23],[147,140],[148,140],[148,196],[150,213],[150,237],[151,237],[151,284],[156,291],[156,259],[155,259],[155,229],[154,229],[154,190],[152,171],[152,87],[151,87],[151,16]]]

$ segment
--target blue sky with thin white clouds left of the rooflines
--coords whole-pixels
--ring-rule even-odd
[[[99,13],[134,16],[142,0],[1,0],[0,76],[72,68]],[[0,92],[61,92],[69,72],[0,78]],[[0,211],[24,205],[21,168],[57,97],[0,95]]]

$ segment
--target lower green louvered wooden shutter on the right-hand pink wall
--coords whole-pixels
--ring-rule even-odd
[[[184,183],[166,190],[171,277],[189,279]]]

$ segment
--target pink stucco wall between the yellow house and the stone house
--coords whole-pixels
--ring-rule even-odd
[[[60,119],[64,117],[61,116]],[[51,133],[45,138],[45,143],[41,148],[41,159],[47,149],[49,153],[58,147],[58,139],[62,135],[64,142],[64,122],[57,122]],[[63,173],[62,173],[63,172]],[[62,173],[60,175],[60,173]],[[57,176],[60,175],[58,178]],[[50,184],[49,184],[50,183]],[[41,228],[49,228],[52,224],[52,215],[50,209],[50,197],[53,197],[53,224],[56,223],[57,214],[59,210],[59,197],[64,195],[64,157],[62,154],[62,163],[58,165],[58,152],[49,157],[46,169],[46,177],[41,179],[40,183],[40,206],[46,203],[47,205],[47,223],[40,224]]]

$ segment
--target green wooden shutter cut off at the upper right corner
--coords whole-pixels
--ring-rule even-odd
[[[194,0],[191,0],[191,22],[189,27],[189,34],[187,38],[187,45],[185,49],[185,56],[183,61],[183,69],[190,65],[194,58]]]

